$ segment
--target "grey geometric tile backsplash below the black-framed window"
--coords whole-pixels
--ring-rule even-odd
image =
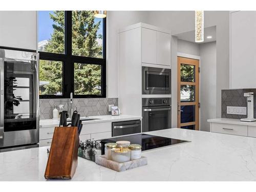
[[[40,119],[52,119],[54,105],[63,104],[63,109],[69,111],[70,99],[39,99]],[[73,110],[82,116],[111,115],[109,104],[118,105],[118,98],[74,98]]]

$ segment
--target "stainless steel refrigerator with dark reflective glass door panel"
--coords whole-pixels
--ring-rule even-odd
[[[0,49],[0,152],[39,141],[38,59],[38,53]]]

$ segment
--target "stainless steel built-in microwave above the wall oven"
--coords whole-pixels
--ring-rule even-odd
[[[170,93],[170,69],[142,67],[142,94]]]

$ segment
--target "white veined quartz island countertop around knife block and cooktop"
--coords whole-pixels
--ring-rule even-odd
[[[256,138],[168,129],[148,134],[188,140],[142,152],[148,164],[116,172],[78,158],[72,181],[256,181]],[[47,147],[0,153],[0,181],[45,181]]]

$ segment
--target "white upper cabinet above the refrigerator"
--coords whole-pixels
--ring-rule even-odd
[[[0,46],[36,50],[36,11],[0,11]]]

